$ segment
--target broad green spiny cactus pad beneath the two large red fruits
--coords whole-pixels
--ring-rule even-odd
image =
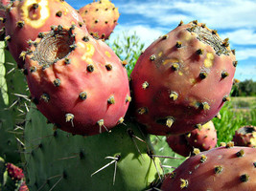
[[[144,190],[158,177],[156,168],[161,173],[159,160],[147,154],[148,135],[136,123],[84,138],[54,131],[34,108],[25,128],[26,181],[31,190]]]

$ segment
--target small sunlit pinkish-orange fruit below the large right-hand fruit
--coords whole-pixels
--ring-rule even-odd
[[[217,132],[214,123],[210,120],[198,129],[186,135],[189,144],[200,151],[208,151],[217,145]]]

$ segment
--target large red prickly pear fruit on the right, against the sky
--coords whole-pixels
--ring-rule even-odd
[[[154,135],[193,131],[229,100],[235,52],[216,31],[180,23],[142,53],[132,71],[134,115]]]

